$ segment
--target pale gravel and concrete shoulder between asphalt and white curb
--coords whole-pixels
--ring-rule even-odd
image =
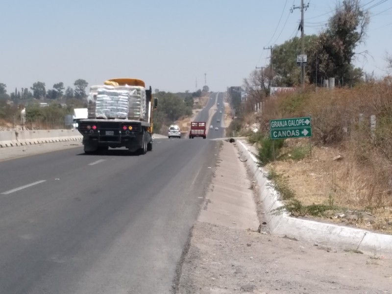
[[[176,293],[392,293],[390,259],[269,235],[238,157],[222,143]]]

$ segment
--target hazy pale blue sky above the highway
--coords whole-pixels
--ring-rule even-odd
[[[356,65],[384,75],[392,0],[361,3],[375,7],[366,46],[357,51],[372,57]],[[73,87],[78,78],[92,85],[135,77],[153,89],[184,92],[195,91],[196,79],[202,88],[207,73],[210,90],[225,91],[268,63],[263,47],[295,36],[301,14],[290,13],[293,4],[300,0],[4,0],[0,83],[10,93],[36,81],[48,90],[61,81]],[[305,34],[319,32],[335,5],[310,0]]]

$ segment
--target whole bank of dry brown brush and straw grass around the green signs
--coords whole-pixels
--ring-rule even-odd
[[[371,115],[376,116],[377,122],[373,137]],[[269,164],[267,169],[273,167],[283,174],[303,205],[332,201],[341,212],[360,215],[343,221],[392,233],[390,80],[354,89],[321,89],[317,93],[270,98],[258,121],[267,133],[270,119],[300,116],[312,117],[312,156],[299,161],[285,156],[285,160]],[[307,139],[289,139],[282,152],[287,155],[294,147],[308,144]],[[338,155],[341,158],[334,160]]]

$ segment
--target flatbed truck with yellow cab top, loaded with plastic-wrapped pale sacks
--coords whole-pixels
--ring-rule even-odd
[[[86,154],[126,147],[145,154],[152,150],[152,113],[158,99],[151,86],[135,78],[114,78],[92,86],[87,98],[87,119],[79,120]]]

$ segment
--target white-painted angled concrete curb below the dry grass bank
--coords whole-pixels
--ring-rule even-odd
[[[273,214],[274,209],[283,206],[279,195],[270,187],[266,172],[258,167],[257,159],[241,141],[236,146],[255,177],[262,201],[263,210],[271,233],[289,235],[316,242],[319,245],[340,246],[348,250],[360,250],[376,256],[392,256],[392,236],[378,234],[363,229],[351,228],[333,223],[299,219],[287,213]]]

